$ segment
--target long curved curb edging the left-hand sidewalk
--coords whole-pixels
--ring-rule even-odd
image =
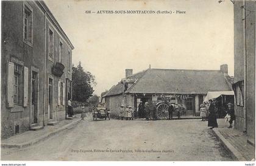
[[[81,119],[78,119],[74,122],[71,122],[71,123],[69,123],[65,126],[62,126],[62,127],[58,128],[55,131],[52,131],[51,133],[44,134],[43,136],[37,137],[33,140],[29,140],[28,142],[24,142],[24,143],[21,143],[21,144],[1,144],[1,148],[24,148],[24,147],[29,147],[31,145],[37,144],[38,142],[40,142],[42,140],[48,139],[48,137],[50,137],[50,136],[54,136],[55,134],[59,133],[60,131],[65,130],[68,127],[77,125],[77,123],[79,123],[80,121],[81,121]]]

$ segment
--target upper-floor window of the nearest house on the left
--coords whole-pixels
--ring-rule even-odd
[[[32,46],[32,8],[28,4],[23,10],[23,41]]]

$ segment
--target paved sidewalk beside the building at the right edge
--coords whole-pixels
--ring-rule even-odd
[[[213,128],[213,132],[235,161],[255,159],[255,145],[247,142],[247,136],[234,128],[227,128],[229,124],[224,119],[218,119],[218,125],[219,128]]]

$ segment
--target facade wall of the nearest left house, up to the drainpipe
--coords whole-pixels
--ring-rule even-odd
[[[2,1],[2,47],[1,47],[1,138],[14,134],[15,124],[20,124],[20,133],[27,131],[30,125],[30,81],[28,105],[6,107],[7,97],[7,61],[18,60],[23,67],[39,69],[40,89],[38,91],[38,122],[43,121],[43,64],[44,60],[44,16],[37,10],[34,2],[27,2],[33,9],[33,45],[23,42],[23,1]],[[23,85],[23,79],[21,79]],[[23,87],[22,87],[23,88]],[[23,99],[23,94],[20,93]],[[21,101],[22,103],[23,101]],[[12,112],[14,109],[18,112]]]

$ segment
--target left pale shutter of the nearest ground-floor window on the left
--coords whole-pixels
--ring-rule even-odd
[[[14,63],[7,62],[7,107],[13,107]]]

